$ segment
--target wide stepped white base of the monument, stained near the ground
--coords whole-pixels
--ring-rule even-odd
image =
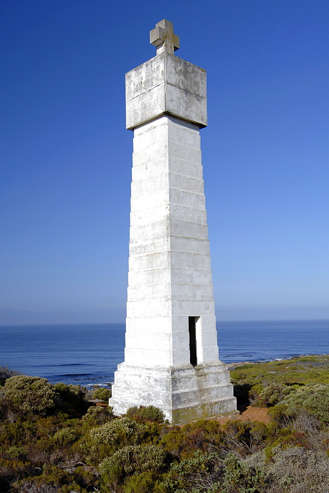
[[[236,413],[230,372],[222,361],[197,366],[118,365],[109,405],[115,415],[132,406],[160,408],[172,424],[188,423],[225,413]]]

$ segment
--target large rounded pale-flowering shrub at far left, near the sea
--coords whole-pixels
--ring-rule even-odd
[[[8,401],[22,413],[45,414],[54,407],[56,392],[47,379],[17,375],[4,385]]]

